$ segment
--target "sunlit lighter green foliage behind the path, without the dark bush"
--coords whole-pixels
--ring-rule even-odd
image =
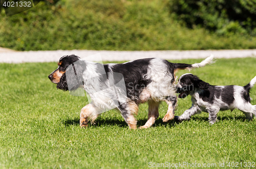
[[[0,46],[15,50],[192,50],[248,49],[256,37],[246,32],[223,37],[203,27],[189,29],[168,1],[60,0],[0,18]],[[233,22],[226,30],[240,25]],[[242,27],[243,31],[244,28]],[[225,31],[225,30],[224,30]]]

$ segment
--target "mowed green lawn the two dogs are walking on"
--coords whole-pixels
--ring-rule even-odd
[[[48,79],[56,68],[57,63],[0,64],[0,168],[256,166],[256,119],[248,122],[237,109],[220,111],[211,126],[205,112],[182,123],[163,123],[167,105],[162,103],[159,119],[148,129],[130,130],[116,110],[81,129],[79,114],[87,98],[57,90]],[[256,75],[256,58],[218,59],[190,73],[211,85],[245,86]],[[256,104],[256,87],[250,96]],[[176,115],[190,105],[190,96],[179,99]],[[147,104],[140,105],[136,118],[138,127],[144,125]]]

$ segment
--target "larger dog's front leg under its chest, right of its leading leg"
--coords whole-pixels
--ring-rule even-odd
[[[138,113],[138,105],[133,102],[124,103],[118,106],[124,121],[130,129],[136,129],[137,121],[133,114]]]

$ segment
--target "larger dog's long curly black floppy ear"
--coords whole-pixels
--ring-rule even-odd
[[[84,61],[76,61],[69,65],[66,70],[67,85],[69,91],[76,90],[83,85],[83,71],[86,69],[86,63]]]

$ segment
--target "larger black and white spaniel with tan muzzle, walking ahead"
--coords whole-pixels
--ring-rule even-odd
[[[148,120],[144,126],[140,127],[148,128],[155,123],[159,116],[158,106],[161,101],[168,104],[163,122],[174,118],[177,102],[174,85],[176,71],[203,67],[212,63],[212,60],[213,55],[201,63],[191,65],[170,63],[159,58],[102,65],[84,61],[76,55],[65,55],[60,58],[58,68],[48,77],[53,83],[57,84],[58,89],[72,91],[82,87],[90,95],[92,102],[81,109],[81,127],[86,127],[89,120],[94,122],[99,114],[104,110],[115,107],[117,103],[116,108],[120,110],[129,128],[136,129],[137,121],[133,114],[137,114],[140,103],[148,101]],[[67,76],[68,69],[74,72],[73,76]],[[73,80],[69,80],[69,78],[73,78]],[[126,97],[116,97],[120,88],[111,88],[110,83],[115,85],[122,78],[125,83]],[[71,85],[68,85],[67,81],[71,81]]]

